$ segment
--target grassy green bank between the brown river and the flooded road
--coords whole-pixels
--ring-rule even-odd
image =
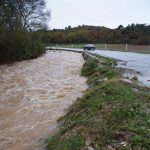
[[[59,120],[61,129],[47,149],[150,149],[149,89],[124,81],[114,60],[84,58],[81,74],[89,89]]]

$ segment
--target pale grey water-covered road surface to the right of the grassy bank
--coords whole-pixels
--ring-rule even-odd
[[[150,54],[107,50],[95,50],[90,52],[121,60],[118,62],[118,67],[133,69],[137,72],[128,73],[125,76],[132,78],[136,75],[143,85],[150,87]]]

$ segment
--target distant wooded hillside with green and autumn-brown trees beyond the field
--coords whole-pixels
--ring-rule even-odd
[[[108,43],[108,44],[150,44],[150,25],[119,25],[116,29],[101,26],[68,26],[65,29],[42,30],[44,43]]]

